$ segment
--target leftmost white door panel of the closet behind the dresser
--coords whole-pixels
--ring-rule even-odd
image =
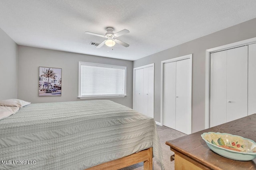
[[[227,51],[210,55],[210,127],[227,122]]]

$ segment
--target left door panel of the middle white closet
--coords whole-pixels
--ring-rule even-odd
[[[176,129],[176,62],[164,64],[163,124]]]

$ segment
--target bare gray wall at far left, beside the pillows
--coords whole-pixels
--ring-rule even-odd
[[[0,28],[0,100],[17,98],[17,44]]]

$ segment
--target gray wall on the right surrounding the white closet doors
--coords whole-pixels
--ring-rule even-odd
[[[206,49],[219,47],[253,37],[256,37],[256,18],[134,61],[134,68],[155,63],[155,120],[160,122],[161,61],[193,54],[192,132],[200,131],[204,129],[205,124]]]

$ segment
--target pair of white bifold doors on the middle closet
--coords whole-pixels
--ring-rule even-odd
[[[190,60],[164,63],[163,124],[177,131],[191,133]]]

